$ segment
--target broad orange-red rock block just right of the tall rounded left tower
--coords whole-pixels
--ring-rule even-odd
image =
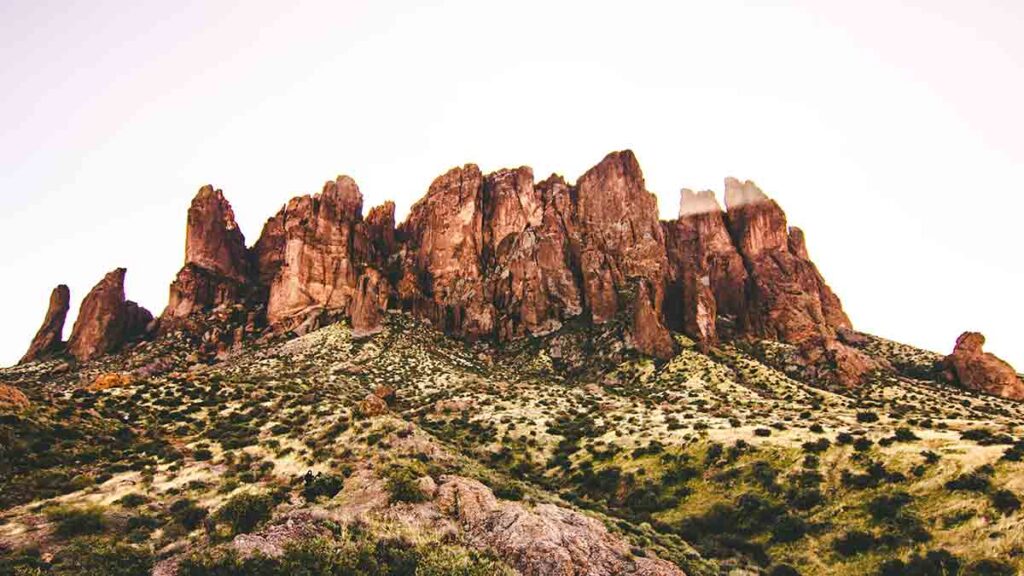
[[[310,310],[346,312],[355,293],[354,229],[362,219],[355,181],[338,176],[315,196],[292,199],[267,222],[256,247],[269,281],[267,321],[282,324]],[[265,269],[263,266],[266,266]]]

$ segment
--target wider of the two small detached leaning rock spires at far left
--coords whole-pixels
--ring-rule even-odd
[[[125,299],[125,269],[109,273],[82,300],[68,340],[68,352],[80,362],[116,352],[146,335],[153,315]]]

